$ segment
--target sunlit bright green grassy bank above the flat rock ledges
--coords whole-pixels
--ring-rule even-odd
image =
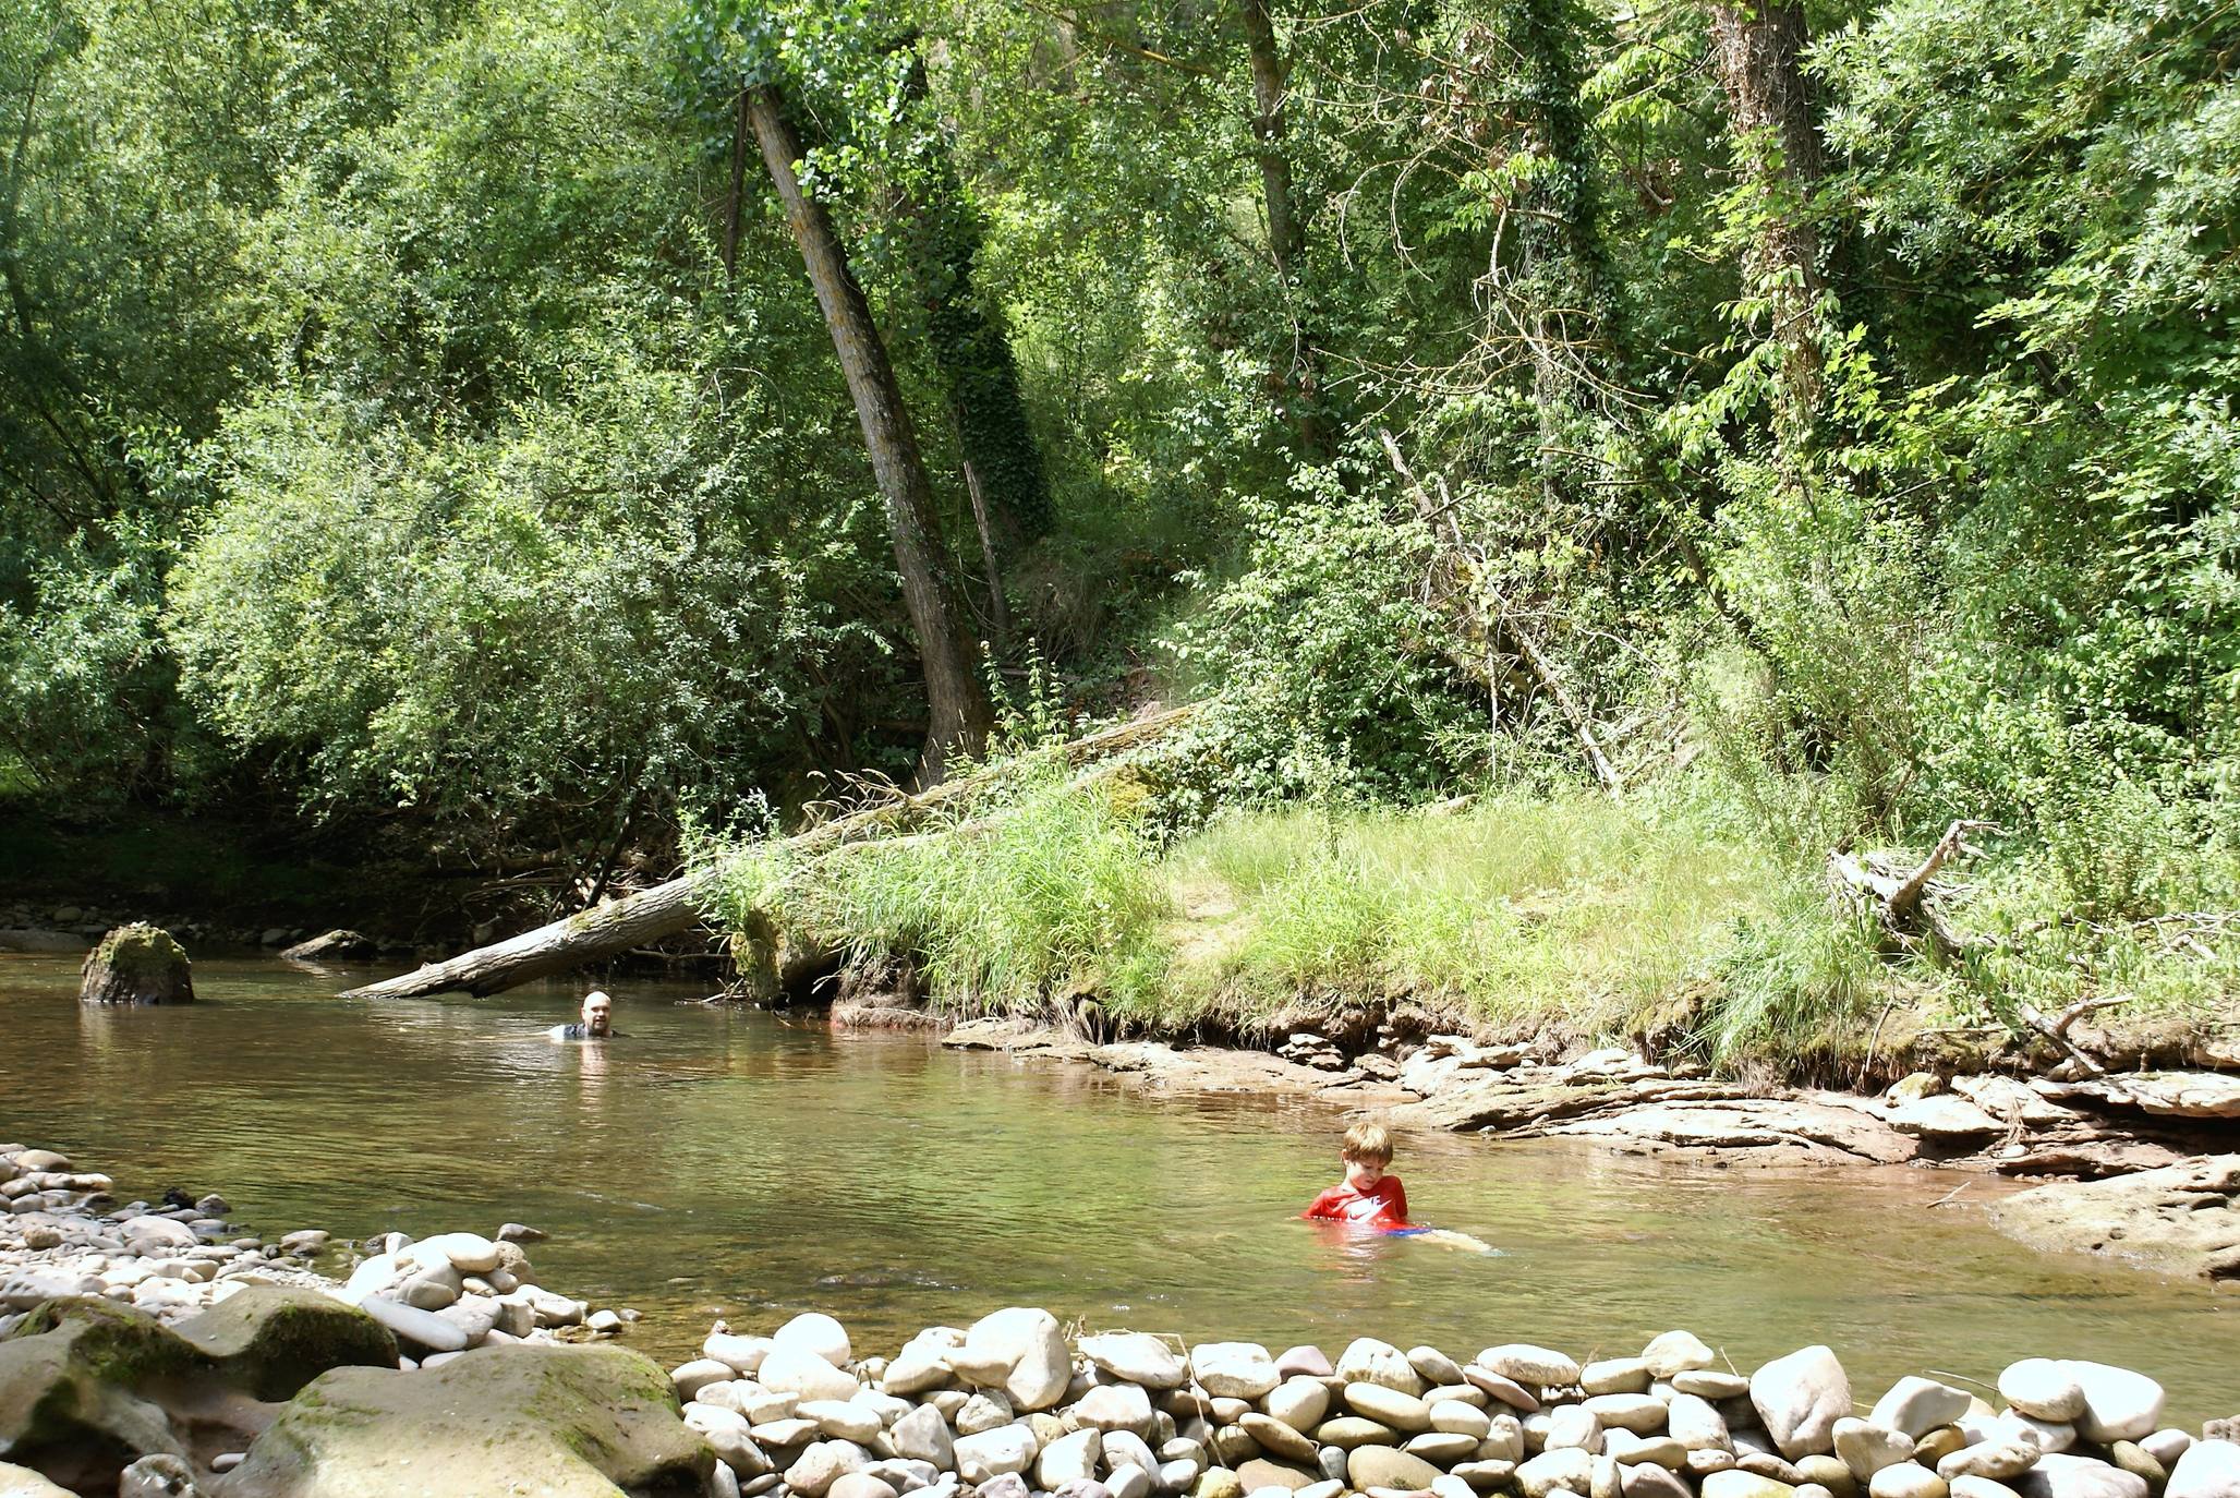
[[[1882,943],[1819,858],[1783,858],[1702,784],[1241,811],[1154,846],[1129,795],[1028,777],[894,844],[741,858],[728,905],[856,963],[907,954],[954,1010],[1093,996],[1149,1030],[1416,1003],[1501,1034],[1857,1077],[1904,1066],[1924,1032],[2023,1034],[2023,1005],[2124,994],[2115,1014],[2162,1037],[2240,1021],[2240,923],[2081,918],[2020,842],[1964,873],[1944,909],[1985,945],[1938,963]],[[2233,884],[2229,858],[2200,853],[2186,891],[2229,909]]]

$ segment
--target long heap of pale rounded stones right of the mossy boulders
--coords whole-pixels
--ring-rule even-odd
[[[1588,1364],[1369,1337],[1333,1361],[1068,1343],[1048,1312],[1008,1308],[856,1361],[811,1312],[771,1337],[719,1326],[672,1379],[748,1498],[2240,1496],[2233,1422],[2173,1429],[2162,1386],[2126,1368],[2025,1359],[1982,1384],[1996,1404],[1906,1377],[1864,1406],[1826,1346],[1743,1375],[1684,1330]]]

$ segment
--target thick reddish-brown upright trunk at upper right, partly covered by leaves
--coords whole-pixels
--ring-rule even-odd
[[[1808,215],[1821,148],[1803,72],[1810,40],[1801,0],[1711,4],[1711,56],[1727,92],[1736,170],[1758,215],[1743,282],[1765,298],[1781,345],[1774,428],[1785,443],[1808,437],[1821,396],[1819,233]]]

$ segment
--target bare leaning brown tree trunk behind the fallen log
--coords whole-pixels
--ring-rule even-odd
[[[948,761],[979,752],[995,725],[988,690],[979,678],[979,649],[972,640],[972,616],[965,611],[948,544],[934,515],[934,490],[918,457],[918,437],[903,405],[887,345],[871,320],[871,305],[849,271],[847,253],[833,233],[824,206],[802,193],[793,163],[800,161],[800,139],[786,121],[771,85],[746,90],[748,125],[771,168],[771,184],[786,204],[786,222],[809,266],[824,325],[840,356],[856,419],[871,452],[871,472],[887,499],[887,528],[894,535],[894,564],[903,575],[903,602],[918,636],[918,661],[925,665],[925,759],[923,784],[943,777]]]

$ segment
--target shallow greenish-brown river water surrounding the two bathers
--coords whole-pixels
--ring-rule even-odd
[[[349,1001],[365,972],[199,961],[199,1003],[90,1010],[76,963],[0,956],[0,1137],[119,1196],[220,1191],[251,1232],[551,1232],[538,1279],[636,1305],[634,1346],[838,1314],[867,1352],[997,1305],[1272,1346],[1539,1341],[1620,1357],[1684,1326],[1732,1364],[1830,1343],[1861,1399],[2027,1355],[2139,1368],[2182,1424],[2240,1411],[2240,1294],[2047,1258],[1985,1227],[2005,1187],[1933,1171],[1720,1171],[1411,1135],[1456,1254],[1295,1220],[1342,1120],[1149,1099],[1089,1068],[685,1003],[618,983],[623,1039],[556,1046],[582,985]],[[1949,1193],[1958,1189],[1951,1200]],[[1942,1205],[1938,1205],[1942,1202]],[[329,1265],[338,1267],[338,1265]]]

